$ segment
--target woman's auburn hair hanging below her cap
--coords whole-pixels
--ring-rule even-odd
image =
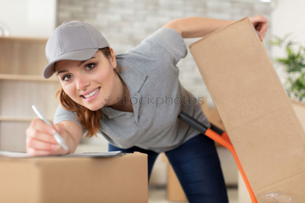
[[[109,47],[100,48],[98,52],[99,51],[102,52],[102,54],[106,58],[111,57],[111,51]],[[119,67],[119,71],[121,72],[120,65],[118,65],[117,67]],[[80,122],[85,129],[88,130],[86,137],[89,138],[92,137],[93,135],[97,137],[96,132],[99,131],[100,129],[99,122],[102,115],[104,119],[104,114],[102,114],[101,109],[98,109],[96,111],[91,111],[90,109],[80,104],[77,104],[65,93],[65,91],[63,91],[63,87],[60,87],[60,90],[57,91],[56,98],[58,97],[58,95],[59,95],[59,102],[62,105],[62,107],[66,110],[76,112],[77,121]]]

